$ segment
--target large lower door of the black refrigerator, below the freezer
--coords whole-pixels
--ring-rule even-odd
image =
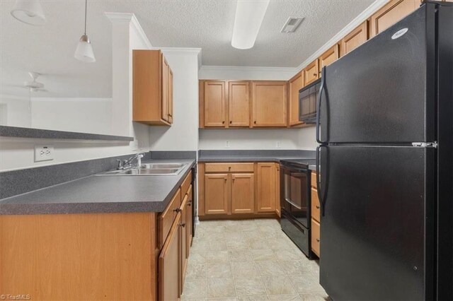
[[[321,285],[333,300],[430,300],[432,148],[321,148]]]

